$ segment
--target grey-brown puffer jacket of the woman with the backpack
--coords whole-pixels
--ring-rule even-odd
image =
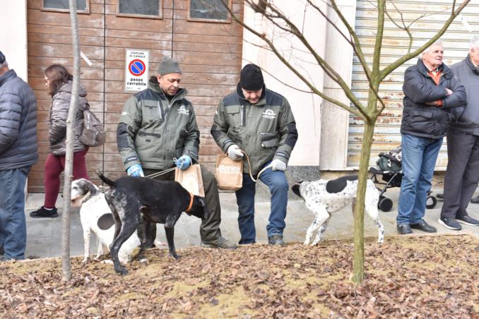
[[[49,143],[50,152],[53,155],[65,155],[66,153],[66,119],[69,115],[71,86],[73,81],[61,85],[52,97],[52,107],[49,112]],[[78,111],[75,116],[75,134],[73,139],[73,152],[85,150],[85,145],[80,142],[83,131],[83,111],[90,106],[86,100],[86,91],[80,87],[78,97]]]

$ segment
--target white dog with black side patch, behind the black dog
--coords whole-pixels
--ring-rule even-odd
[[[71,206],[81,207],[80,219],[83,227],[84,258],[86,263],[90,258],[90,234],[97,236],[97,257],[110,252],[110,245],[114,236],[114,219],[110,206],[105,200],[105,193],[86,179],[77,179],[71,182]],[[140,239],[136,231],[122,245],[118,258],[122,265],[129,263],[141,251]],[[111,263],[111,260],[110,260]]]

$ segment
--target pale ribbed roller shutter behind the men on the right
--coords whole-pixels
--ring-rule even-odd
[[[415,1],[401,0],[394,1],[398,10],[401,11],[402,17],[406,24],[413,22],[425,14],[423,18],[418,20],[411,28],[415,41],[413,49],[417,49],[424,42],[430,40],[432,35],[442,28],[442,21],[447,20],[451,11],[451,2],[449,0],[434,1]],[[401,21],[400,14],[394,10],[389,4],[387,6],[389,13],[396,21]],[[479,32],[479,4],[477,1],[471,1],[464,8],[461,15],[468,21],[468,25],[461,22],[458,17],[449,26],[447,32],[442,36],[444,44],[444,63],[450,66],[455,62],[461,61],[467,56],[469,42],[471,37]],[[363,52],[365,52],[366,61],[372,61],[374,52],[375,30],[377,25],[377,9],[371,1],[358,0],[356,11],[356,32],[362,43]],[[405,31],[401,31],[386,18],[384,25],[384,40],[382,43],[382,67],[398,59],[399,56],[406,54],[408,47],[408,35]],[[389,76],[387,76],[380,87],[379,95],[384,96],[386,109],[377,121],[374,130],[374,143],[372,144],[372,152],[370,165],[374,165],[378,159],[379,152],[387,152],[397,145],[401,144],[401,116],[403,112],[403,74],[408,66],[416,64],[417,58],[411,59],[399,68],[396,68]],[[353,90],[355,95],[364,103],[367,101],[367,79],[365,73],[357,61],[354,60],[353,65]],[[362,132],[364,131],[364,123],[361,119],[351,115],[349,136],[348,136],[348,166],[357,167],[359,165],[360,150],[362,143]],[[447,145],[444,139],[439,157],[437,159],[436,170],[444,170],[447,166]]]

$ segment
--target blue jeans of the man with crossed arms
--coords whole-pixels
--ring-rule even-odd
[[[442,138],[420,138],[401,134],[403,181],[399,193],[398,224],[417,224],[425,215],[427,192]]]

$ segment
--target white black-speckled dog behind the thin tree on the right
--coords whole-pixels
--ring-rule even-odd
[[[306,207],[311,210],[316,218],[306,231],[304,245],[309,245],[314,231],[317,231],[316,238],[312,245],[316,245],[324,234],[332,212],[341,210],[356,197],[357,176],[343,176],[339,179],[328,181],[300,181],[292,186],[292,191],[304,199]],[[379,229],[378,243],[384,241],[384,226],[379,220],[377,203],[379,191],[371,180],[367,180],[365,211],[376,223]]]

